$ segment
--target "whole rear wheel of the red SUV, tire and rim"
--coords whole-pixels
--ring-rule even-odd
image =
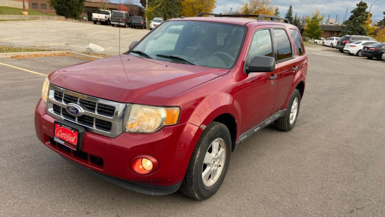
[[[288,105],[286,106],[285,115],[274,121],[276,128],[281,131],[290,131],[297,122],[298,112],[300,111],[301,94],[295,89],[291,94]]]

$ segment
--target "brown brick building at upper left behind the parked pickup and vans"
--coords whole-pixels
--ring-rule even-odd
[[[4,1],[4,0],[0,0]],[[29,8],[37,10],[45,14],[56,14],[55,8],[52,7],[47,0],[25,0],[29,3]],[[82,16],[87,16],[88,13],[94,13],[99,9],[102,4],[102,0],[86,1],[84,3],[84,11]],[[144,7],[139,5],[126,5],[130,9],[130,15],[144,17]],[[108,10],[119,10],[119,4],[107,3]]]

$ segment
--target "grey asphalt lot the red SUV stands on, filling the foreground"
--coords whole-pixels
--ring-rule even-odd
[[[219,191],[201,202],[112,185],[36,138],[45,75],[84,60],[0,59],[0,216],[384,216],[385,64],[327,47],[306,51],[295,128],[270,126],[242,143]]]

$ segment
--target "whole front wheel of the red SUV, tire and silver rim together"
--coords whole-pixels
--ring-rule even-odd
[[[211,122],[195,146],[179,190],[196,200],[214,195],[226,176],[230,153],[229,129],[219,122]]]

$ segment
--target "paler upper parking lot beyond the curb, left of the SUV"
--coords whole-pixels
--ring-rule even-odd
[[[132,41],[138,41],[149,32],[149,29],[119,30],[111,25],[65,20],[0,22],[0,29],[6,30],[0,31],[0,46],[85,51],[85,47],[93,43],[103,47],[106,54],[119,53],[119,31],[121,53],[128,50]]]

